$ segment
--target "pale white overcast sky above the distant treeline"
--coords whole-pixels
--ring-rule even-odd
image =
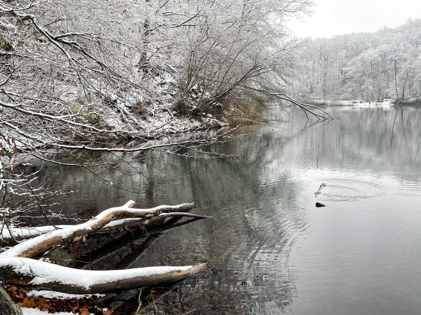
[[[376,32],[421,18],[421,0],[313,0],[313,14],[288,26],[297,37]]]

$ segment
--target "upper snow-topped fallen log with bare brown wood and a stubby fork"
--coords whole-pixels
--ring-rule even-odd
[[[194,203],[189,203],[177,206],[164,205],[151,209],[132,209],[134,205],[135,202],[130,200],[122,207],[110,208],[102,211],[96,217],[93,217],[85,223],[60,230],[54,230],[46,235],[35,237],[0,253],[0,258],[35,257],[54,246],[92,234],[101,229],[107,223],[121,216],[150,218],[152,216],[159,215],[160,213],[184,211],[194,207]]]

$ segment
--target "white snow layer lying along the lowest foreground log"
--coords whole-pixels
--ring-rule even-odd
[[[112,271],[92,271],[47,264],[48,263],[46,262],[31,258],[0,258],[0,267],[9,266],[15,273],[20,275],[35,275],[29,284],[37,285],[48,282],[58,282],[64,285],[84,288],[86,290],[89,290],[93,285],[110,281],[126,280],[135,277],[148,277],[174,271],[184,271],[192,267],[160,266]]]

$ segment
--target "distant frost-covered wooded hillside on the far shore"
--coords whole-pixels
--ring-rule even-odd
[[[420,19],[375,33],[311,39],[303,58],[295,90],[303,99],[421,102]]]

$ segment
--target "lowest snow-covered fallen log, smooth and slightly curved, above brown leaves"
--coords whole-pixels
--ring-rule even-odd
[[[70,294],[99,294],[181,280],[206,270],[205,263],[183,267],[145,267],[112,271],[79,270],[30,258],[0,259],[7,284]]]

